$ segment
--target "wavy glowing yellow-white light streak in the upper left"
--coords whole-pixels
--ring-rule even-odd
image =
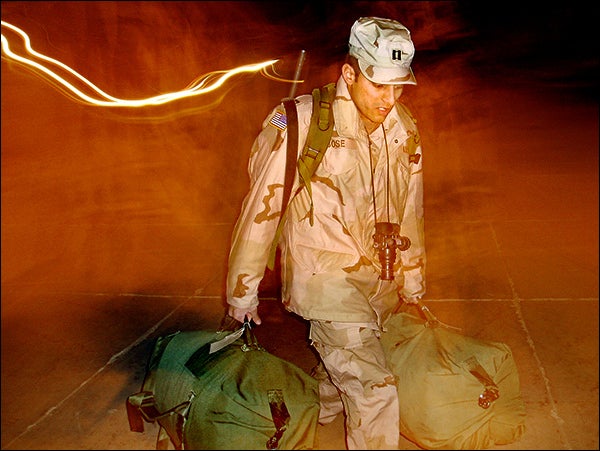
[[[21,36],[21,38],[23,39],[25,50],[27,51],[28,55],[37,58],[38,61],[41,60],[43,62],[50,63],[51,65],[57,66],[60,69],[66,71],[69,74],[69,76],[74,76],[76,79],[78,79],[80,82],[84,83],[88,88],[90,88],[95,94],[94,96],[86,94],[85,92],[81,91],[71,82],[67,81],[65,78],[63,78],[54,70],[50,69],[44,64],[41,64],[40,62],[35,61],[34,59],[31,59],[27,56],[21,56],[13,52],[9,45],[8,39],[4,36],[4,33],[2,33],[3,58],[20,63],[24,65],[27,69],[33,71],[37,75],[41,75],[45,79],[49,78],[49,81],[52,84],[56,82],[58,84],[58,88],[61,91],[63,91],[67,96],[73,98],[76,101],[83,102],[89,105],[127,108],[140,108],[146,106],[163,105],[176,100],[213,92],[222,87],[225,84],[225,82],[230,78],[242,73],[258,72],[272,80],[294,82],[294,80],[287,80],[277,75],[272,75],[268,72],[269,68],[271,68],[271,70],[275,73],[274,65],[277,61],[279,61],[278,59],[272,59],[256,64],[239,66],[231,70],[219,70],[209,72],[203,76],[197,77],[185,89],[181,91],[169,92],[144,99],[119,99],[117,97],[111,96],[110,94],[107,94],[102,89],[94,85],[87,78],[85,78],[83,75],[79,74],[69,66],[61,63],[60,61],[54,58],[50,58],[49,56],[35,51],[31,46],[29,36],[20,28],[11,25],[10,23],[5,21],[2,21],[2,27],[3,29],[6,27],[7,29],[10,29],[13,32],[17,33],[19,36]]]

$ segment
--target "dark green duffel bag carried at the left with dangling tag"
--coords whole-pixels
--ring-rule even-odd
[[[158,422],[157,449],[315,449],[319,408],[317,381],[262,348],[248,323],[159,338],[127,399],[132,431]]]

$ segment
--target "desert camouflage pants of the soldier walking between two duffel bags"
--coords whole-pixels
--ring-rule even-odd
[[[313,370],[321,397],[319,422],[331,422],[343,410],[348,449],[398,449],[398,392],[377,326],[310,324],[310,339],[322,361]]]

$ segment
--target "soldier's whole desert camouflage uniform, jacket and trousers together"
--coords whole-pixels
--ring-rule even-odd
[[[312,96],[299,96],[296,105],[300,152]],[[367,136],[341,77],[333,113],[333,136],[311,182],[312,218],[307,190],[293,194],[280,238],[282,302],[311,322],[312,344],[337,386],[322,371],[315,374],[323,395],[320,421],[340,411],[341,395],[348,447],[393,449],[399,440],[397,392],[378,336],[398,296],[414,299],[425,292],[421,142],[416,121],[401,104],[385,119],[385,133],[379,127]],[[236,307],[258,305],[258,286],[281,211],[286,138],[280,105],[266,118],[252,147],[250,191],[233,232],[227,302]],[[297,185],[296,176],[292,193]],[[393,281],[379,279],[375,214],[378,222],[399,223],[400,234],[412,243],[398,251]]]

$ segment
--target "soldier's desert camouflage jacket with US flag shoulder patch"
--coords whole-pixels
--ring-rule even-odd
[[[297,97],[296,106],[300,152],[312,96]],[[341,77],[333,114],[333,136],[311,181],[312,225],[306,188],[295,193],[297,175],[292,189],[279,240],[282,302],[306,319],[381,324],[398,295],[420,298],[425,293],[421,142],[416,121],[400,103],[385,119],[385,132],[379,127],[367,136]],[[259,302],[258,286],[281,211],[286,119],[283,105],[275,107],[252,147],[250,190],[229,255],[227,302],[236,307]],[[379,278],[381,263],[373,246],[375,214],[379,222],[399,223],[400,234],[411,241],[408,250],[397,251],[393,281]]]

